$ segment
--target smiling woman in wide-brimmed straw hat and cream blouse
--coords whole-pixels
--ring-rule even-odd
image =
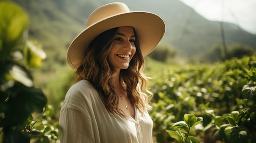
[[[91,13],[67,51],[78,80],[61,108],[61,143],[152,143],[144,56],[164,31],[159,16],[119,2]]]

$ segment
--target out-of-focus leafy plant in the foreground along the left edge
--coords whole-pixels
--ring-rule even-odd
[[[43,112],[47,99],[28,68],[41,66],[46,55],[27,40],[29,17],[18,5],[0,1],[0,21],[0,143],[29,143],[44,129],[31,114]]]

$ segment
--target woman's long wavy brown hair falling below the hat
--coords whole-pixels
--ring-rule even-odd
[[[110,66],[108,54],[114,42],[117,29],[110,29],[98,35],[86,48],[85,59],[76,70],[77,82],[85,79],[99,92],[106,109],[111,113],[124,113],[118,109],[119,97],[114,85],[115,70]],[[135,37],[136,31],[134,29]],[[136,52],[132,57],[129,67],[121,69],[119,76],[120,85],[126,88],[128,98],[133,106],[142,113],[150,109],[150,99],[153,93],[147,90],[148,77],[143,73],[145,61],[141,53],[139,41],[135,40]]]

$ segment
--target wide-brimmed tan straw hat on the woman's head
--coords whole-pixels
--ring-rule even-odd
[[[94,10],[84,29],[67,50],[67,62],[75,70],[81,65],[85,49],[99,34],[120,26],[132,26],[139,40],[143,56],[148,55],[159,44],[164,36],[164,21],[154,13],[130,11],[126,4],[114,2]]]

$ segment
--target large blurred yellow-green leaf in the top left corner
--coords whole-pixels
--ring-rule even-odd
[[[9,57],[11,51],[27,37],[29,17],[18,5],[0,1],[0,60]]]

